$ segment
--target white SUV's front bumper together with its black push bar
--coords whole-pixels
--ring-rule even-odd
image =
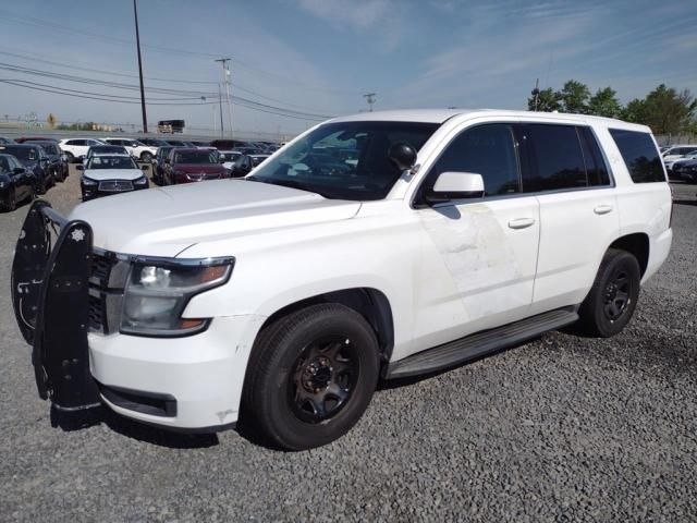
[[[60,234],[51,246],[56,224]],[[204,332],[183,338],[98,331],[94,282],[103,256],[94,251],[88,223],[69,222],[47,202],[34,202],[15,251],[12,301],[22,335],[34,346],[39,396],[63,411],[103,402],[172,429],[232,426],[265,318],[218,317]]]

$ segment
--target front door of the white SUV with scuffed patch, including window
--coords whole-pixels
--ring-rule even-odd
[[[485,196],[427,205],[423,194],[447,171],[481,174]],[[457,135],[429,171],[415,204],[425,244],[415,345],[435,346],[525,318],[533,302],[540,211],[535,196],[521,193],[513,125],[477,125]]]

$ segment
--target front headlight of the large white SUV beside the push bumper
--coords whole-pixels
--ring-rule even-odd
[[[234,258],[136,260],[127,279],[121,332],[186,336],[208,327],[209,318],[182,318],[196,294],[224,284]]]

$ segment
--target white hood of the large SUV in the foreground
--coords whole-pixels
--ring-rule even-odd
[[[245,180],[157,187],[75,207],[95,245],[125,254],[175,256],[206,241],[353,218],[360,203]]]

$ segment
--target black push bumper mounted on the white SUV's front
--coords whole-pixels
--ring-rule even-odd
[[[39,397],[63,411],[100,403],[87,345],[91,260],[89,224],[68,221],[48,202],[34,202],[12,264],[12,305],[33,345]]]

